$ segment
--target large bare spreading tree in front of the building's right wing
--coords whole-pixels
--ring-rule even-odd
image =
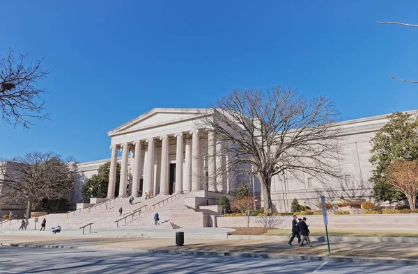
[[[258,176],[265,212],[274,211],[270,196],[274,175],[286,171],[301,182],[304,172],[321,182],[339,177],[339,129],[334,124],[338,113],[327,98],[309,100],[281,87],[233,90],[212,108],[202,118],[202,127],[213,131],[217,142],[208,161],[229,156],[226,164],[217,165],[215,176],[231,172]]]

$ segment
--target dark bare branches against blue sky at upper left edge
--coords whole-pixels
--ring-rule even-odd
[[[46,90],[38,87],[38,81],[45,79],[49,70],[42,68],[43,60],[27,65],[26,57],[20,54],[15,61],[9,49],[8,56],[0,58],[0,107],[5,122],[27,129],[33,118],[49,119],[42,99]]]

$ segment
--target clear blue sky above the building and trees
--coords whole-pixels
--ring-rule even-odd
[[[52,120],[0,122],[0,157],[110,157],[107,131],[233,88],[326,95],[343,120],[418,108],[417,1],[0,1],[0,54],[45,57]]]

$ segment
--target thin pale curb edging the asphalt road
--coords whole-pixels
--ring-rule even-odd
[[[116,252],[138,252],[155,254],[175,254],[175,255],[206,255],[219,257],[246,257],[264,259],[293,259],[311,261],[330,261],[330,262],[349,262],[356,264],[398,264],[398,265],[418,265],[418,259],[394,259],[394,258],[374,258],[356,256],[321,256],[321,255],[288,255],[272,253],[245,253],[245,252],[222,252],[222,251],[192,251],[192,250],[160,250],[160,249],[134,249],[134,248],[88,248],[70,245],[33,245],[33,244],[13,244],[2,243],[3,246],[17,246],[22,248],[59,248],[59,249],[79,249],[79,250],[108,250]]]

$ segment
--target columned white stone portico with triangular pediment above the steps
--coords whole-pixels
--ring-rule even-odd
[[[115,196],[118,150],[121,150],[122,160],[118,196],[189,193],[204,190],[207,184],[209,191],[226,193],[227,183],[215,175],[216,167],[223,164],[222,157],[207,161],[208,155],[217,150],[215,136],[199,127],[199,118],[207,111],[154,108],[109,131],[111,165],[107,198]],[[201,150],[201,147],[209,148]],[[131,193],[127,192],[128,185]],[[229,186],[228,189],[235,188]]]

